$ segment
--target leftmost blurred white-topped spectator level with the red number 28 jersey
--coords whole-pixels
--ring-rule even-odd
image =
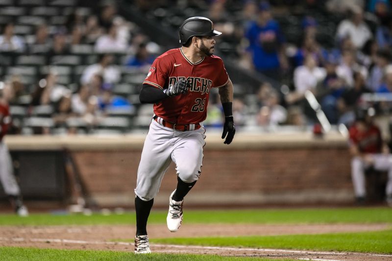
[[[38,85],[32,94],[30,105],[50,105],[57,102],[62,96],[70,93],[71,90],[64,85],[57,83],[56,73],[49,72],[39,80]]]

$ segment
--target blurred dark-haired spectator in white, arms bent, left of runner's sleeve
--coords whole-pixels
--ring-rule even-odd
[[[116,83],[121,79],[120,70],[116,66],[112,66],[113,55],[101,54],[98,64],[93,64],[84,69],[80,82],[89,84],[94,74],[101,74],[105,83]]]

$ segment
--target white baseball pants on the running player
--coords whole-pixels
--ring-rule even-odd
[[[176,131],[152,120],[140,159],[135,194],[142,200],[158,193],[165,172],[173,161],[186,183],[198,180],[203,160],[205,129]]]

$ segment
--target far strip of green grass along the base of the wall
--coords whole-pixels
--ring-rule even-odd
[[[166,211],[151,212],[148,223],[166,222]],[[186,221],[185,221],[186,220]],[[13,214],[0,215],[0,225],[99,225],[134,224],[135,214],[31,214],[18,218]],[[184,211],[186,223],[254,223],[254,224],[315,224],[315,223],[392,223],[391,208],[337,209],[263,209]]]

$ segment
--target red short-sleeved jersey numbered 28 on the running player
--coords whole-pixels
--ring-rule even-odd
[[[229,82],[220,57],[205,56],[197,63],[189,61],[181,48],[171,49],[157,57],[143,84],[166,89],[176,81],[188,80],[191,87],[186,94],[163,99],[154,104],[154,113],[177,124],[199,123],[207,117],[211,88]]]

